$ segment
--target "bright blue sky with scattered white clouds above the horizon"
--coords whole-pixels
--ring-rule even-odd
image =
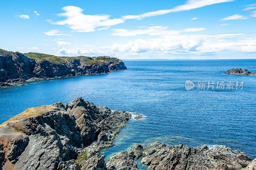
[[[0,48],[120,59],[256,58],[255,3],[1,1]]]

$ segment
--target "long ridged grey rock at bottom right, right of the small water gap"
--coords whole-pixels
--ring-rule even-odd
[[[212,151],[206,145],[166,146],[160,142],[154,142],[143,151],[145,157],[142,158],[141,163],[148,165],[149,170],[231,170],[242,169],[251,162],[247,156],[233,154],[229,149],[220,145]]]

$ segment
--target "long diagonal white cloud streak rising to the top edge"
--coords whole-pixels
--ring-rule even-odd
[[[153,11],[153,12],[147,12],[144,14],[140,15],[126,15],[123,16],[122,19],[142,19],[146,17],[153,17],[153,16],[158,16],[158,15],[164,15],[168,14],[171,12],[179,12],[179,11],[187,11],[187,10],[192,10],[212,4],[219,4],[223,2],[232,2],[234,0],[188,0],[185,4],[176,6],[172,9],[169,10],[159,10],[159,11]]]

